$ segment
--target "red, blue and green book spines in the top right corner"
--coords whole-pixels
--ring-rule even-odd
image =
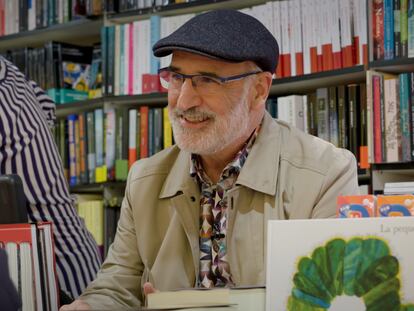
[[[371,1],[374,60],[414,57],[414,1]]]

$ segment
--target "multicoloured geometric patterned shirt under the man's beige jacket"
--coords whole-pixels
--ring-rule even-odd
[[[227,191],[236,184],[259,129],[260,127],[255,130],[234,160],[224,168],[217,184],[213,184],[203,170],[199,156],[191,156],[190,174],[201,188],[199,287],[234,285],[227,260]]]

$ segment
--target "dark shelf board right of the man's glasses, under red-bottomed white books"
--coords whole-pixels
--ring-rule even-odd
[[[319,87],[361,82],[365,82],[363,65],[275,79],[270,89],[270,95],[307,94]]]

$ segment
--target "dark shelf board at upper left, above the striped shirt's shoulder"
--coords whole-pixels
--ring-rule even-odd
[[[101,18],[83,18],[64,24],[2,36],[0,37],[0,51],[27,46],[39,47],[51,40],[90,45],[100,41],[102,25]]]

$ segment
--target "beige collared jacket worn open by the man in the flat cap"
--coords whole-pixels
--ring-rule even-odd
[[[189,171],[190,154],[176,146],[134,164],[115,241],[81,299],[96,309],[131,308],[143,301],[144,282],[159,290],[196,284],[200,192]],[[266,113],[237,186],[227,194],[235,284],[265,284],[267,220],[334,217],[336,197],[357,192],[349,151]]]

